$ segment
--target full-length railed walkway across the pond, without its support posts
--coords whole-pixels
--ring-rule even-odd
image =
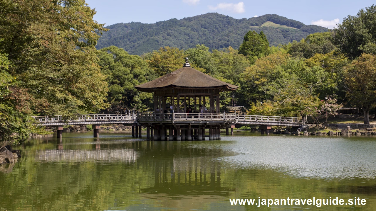
[[[76,115],[75,119],[62,116],[33,116],[42,126],[100,125],[100,124],[224,124],[224,125],[279,125],[302,127],[303,118],[285,116],[237,115],[236,113],[153,113]]]

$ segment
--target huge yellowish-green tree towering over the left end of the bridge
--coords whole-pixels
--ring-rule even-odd
[[[84,0],[0,3],[0,49],[9,74],[35,99],[34,114],[72,116],[106,107],[107,84],[95,45],[103,24]]]

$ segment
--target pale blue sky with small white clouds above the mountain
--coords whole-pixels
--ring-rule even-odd
[[[218,12],[233,18],[277,14],[305,24],[332,28],[347,15],[371,6],[374,0],[86,0],[97,14],[94,20],[106,26],[115,23],[155,23],[181,19],[206,12]]]

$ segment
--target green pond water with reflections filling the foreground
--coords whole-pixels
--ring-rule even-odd
[[[30,139],[0,168],[0,210],[376,210],[375,137],[129,134]],[[366,199],[366,205],[230,205],[229,199]]]

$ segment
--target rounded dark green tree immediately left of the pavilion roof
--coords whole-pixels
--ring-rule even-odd
[[[143,59],[115,46],[102,48],[98,55],[98,64],[109,84],[108,112],[123,113],[126,108],[144,111],[152,106],[153,94],[139,92],[134,87],[157,78]]]

